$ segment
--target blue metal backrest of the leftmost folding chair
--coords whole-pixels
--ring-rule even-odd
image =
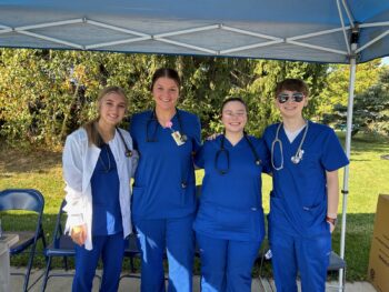
[[[26,210],[42,213],[43,195],[33,189],[7,189],[0,192],[0,211]]]

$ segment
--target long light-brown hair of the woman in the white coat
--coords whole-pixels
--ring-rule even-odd
[[[102,98],[106,97],[107,94],[110,94],[110,93],[117,93],[119,95],[122,95],[124,98],[126,108],[127,108],[128,101],[127,101],[124,90],[121,87],[107,87],[107,88],[103,88],[102,90],[100,90],[100,92],[99,92],[99,97],[97,100],[97,103],[99,104],[98,109],[100,109],[100,102],[101,102]],[[98,122],[99,119],[100,119],[100,113],[96,119],[88,121],[82,127],[87,131],[89,145],[94,144],[98,148],[101,148],[101,145],[103,144],[103,140],[102,140],[102,138],[101,138],[101,135],[96,127],[96,122]]]

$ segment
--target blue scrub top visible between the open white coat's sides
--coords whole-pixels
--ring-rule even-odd
[[[92,235],[122,232],[119,201],[119,177],[112,151],[102,144],[92,178]]]

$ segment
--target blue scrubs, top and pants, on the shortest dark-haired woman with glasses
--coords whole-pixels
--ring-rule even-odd
[[[267,152],[262,140],[249,137],[261,159],[258,165],[245,138],[236,145],[225,139],[228,167],[227,153],[220,151],[222,139],[207,141],[196,155],[196,164],[206,171],[193,223],[201,291],[251,291],[251,269],[265,236],[261,172],[268,171]]]

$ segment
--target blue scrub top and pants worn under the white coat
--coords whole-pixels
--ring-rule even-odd
[[[118,291],[124,252],[123,228],[119,203],[119,177],[108,144],[101,148],[92,178],[93,249],[76,245],[76,275],[72,291],[91,291],[99,259],[103,264],[101,291]]]

